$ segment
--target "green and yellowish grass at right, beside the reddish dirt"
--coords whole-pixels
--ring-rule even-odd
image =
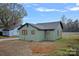
[[[58,49],[49,53],[50,56],[76,56],[79,55],[79,35],[63,35],[62,39],[57,40],[54,44],[58,45]]]

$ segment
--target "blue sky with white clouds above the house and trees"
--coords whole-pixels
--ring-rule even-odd
[[[73,20],[79,19],[79,3],[25,3],[27,12],[24,23],[44,23],[60,21],[65,15]]]

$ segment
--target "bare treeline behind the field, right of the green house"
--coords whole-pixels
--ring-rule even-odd
[[[65,15],[61,17],[61,21],[63,23],[63,31],[64,32],[79,32],[79,20],[69,18],[67,19]]]

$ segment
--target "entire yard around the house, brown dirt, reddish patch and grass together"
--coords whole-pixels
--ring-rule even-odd
[[[53,42],[0,41],[0,55],[79,55],[79,33],[63,33],[62,39]]]

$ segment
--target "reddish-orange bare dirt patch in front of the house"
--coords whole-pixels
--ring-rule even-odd
[[[29,47],[33,54],[48,54],[57,48],[53,42],[32,42]]]

